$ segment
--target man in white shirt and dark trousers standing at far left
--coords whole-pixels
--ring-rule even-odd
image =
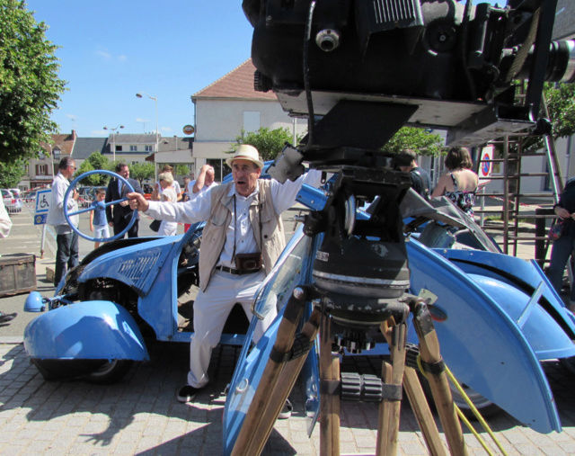
[[[72,269],[78,264],[78,234],[70,228],[64,215],[64,195],[68,189],[69,180],[75,173],[75,161],[70,156],[65,156],[58,164],[58,173],[52,182],[50,204],[46,223],[56,230],[56,268],[54,271],[54,286],[57,287],[62,277],[66,275],[66,268]],[[78,210],[78,192],[74,191],[68,198],[68,212]],[[70,221],[77,228],[79,218],[77,215],[70,216]]]

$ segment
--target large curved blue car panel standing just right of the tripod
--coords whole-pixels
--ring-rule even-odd
[[[559,432],[549,383],[517,321],[446,258],[414,239],[406,246],[411,291],[438,296],[434,307],[445,318],[435,329],[456,378],[535,431]]]

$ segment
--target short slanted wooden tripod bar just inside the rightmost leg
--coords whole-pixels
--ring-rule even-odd
[[[427,398],[421,388],[420,379],[417,372],[411,367],[405,367],[403,372],[403,389],[410,400],[411,410],[415,419],[420,425],[421,433],[428,446],[429,454],[433,456],[444,456],[446,448],[439,438],[438,426],[435,424]]]

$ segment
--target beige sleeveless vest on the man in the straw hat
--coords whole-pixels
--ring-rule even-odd
[[[211,213],[199,249],[199,288],[202,291],[208,288],[209,280],[226,243],[226,229],[232,221],[234,208],[234,198],[228,194],[232,185],[234,183],[226,183],[211,190]],[[281,214],[276,214],[271,201],[270,181],[260,179],[259,186],[260,191],[252,201],[249,217],[253,237],[260,248],[263,267],[267,274],[286,246],[286,236]]]

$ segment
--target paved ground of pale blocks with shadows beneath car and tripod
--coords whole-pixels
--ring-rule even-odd
[[[143,223],[143,227],[147,224]],[[145,228],[142,230],[145,234]],[[91,249],[82,241],[81,255]],[[526,251],[528,246],[525,247]],[[48,249],[47,249],[48,251]],[[531,254],[533,249],[531,247]],[[0,240],[0,253],[40,252],[40,230],[30,215],[14,217],[8,239]],[[38,287],[49,295],[45,269],[53,264],[46,254],[37,260]],[[0,309],[20,312],[9,326],[0,326],[0,454],[206,454],[222,452],[222,391],[231,380],[238,349],[216,351],[210,367],[214,379],[192,405],[174,399],[187,370],[183,344],[151,344],[151,361],[128,372],[117,385],[98,386],[84,381],[48,382],[30,364],[21,344],[23,327],[33,314],[21,312],[25,295],[0,299]],[[343,371],[377,372],[381,359],[346,360]],[[558,362],[545,362],[563,432],[537,434],[500,414],[489,419],[509,454],[575,454],[575,397],[572,375]],[[319,429],[311,439],[305,432],[304,391],[292,391],[295,413],[278,421],[265,454],[318,454]],[[373,454],[377,409],[373,404],[342,402],[341,453]],[[484,433],[483,433],[484,434]],[[426,454],[425,444],[407,401],[400,425],[400,454]],[[485,454],[472,434],[465,432],[470,454]],[[490,443],[490,446],[493,445]]]

